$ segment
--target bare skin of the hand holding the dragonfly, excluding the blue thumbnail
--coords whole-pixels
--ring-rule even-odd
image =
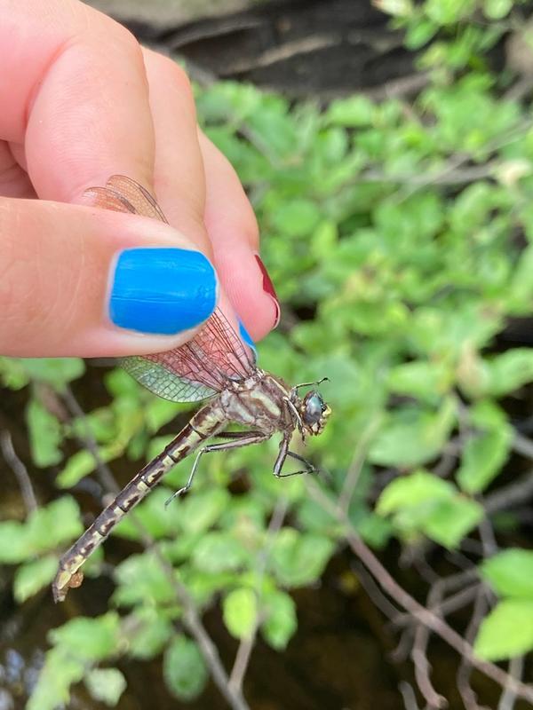
[[[196,248],[252,338],[275,306],[255,260],[258,226],[235,171],[198,129],[187,75],[75,0],[0,6],[0,353],[120,356],[194,335],[143,335],[107,319],[117,251]],[[171,227],[91,207],[120,173],[157,195]],[[235,274],[238,278],[235,278]]]

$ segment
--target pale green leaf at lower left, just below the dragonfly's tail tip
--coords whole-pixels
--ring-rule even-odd
[[[62,627],[53,628],[50,639],[55,646],[79,659],[99,661],[119,649],[120,619],[115,612],[89,619],[77,617]]]

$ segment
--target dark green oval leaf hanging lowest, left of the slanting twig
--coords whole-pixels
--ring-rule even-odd
[[[176,636],[163,658],[163,676],[167,688],[179,700],[193,700],[207,682],[207,668],[194,641]]]

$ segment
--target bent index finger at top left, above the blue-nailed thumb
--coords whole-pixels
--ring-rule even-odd
[[[154,134],[139,44],[76,0],[4,0],[0,138],[25,146],[44,199],[123,173],[151,186]]]

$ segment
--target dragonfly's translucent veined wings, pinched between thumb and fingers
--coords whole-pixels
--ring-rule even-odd
[[[129,177],[114,175],[106,187],[91,187],[86,194],[98,207],[167,221],[152,195]],[[212,397],[229,380],[241,380],[255,369],[243,342],[218,308],[185,345],[153,355],[124,358],[122,365],[148,390],[174,402]]]

